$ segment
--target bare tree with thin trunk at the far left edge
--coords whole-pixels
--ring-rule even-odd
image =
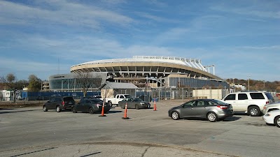
[[[6,77],[0,77],[0,82],[2,82],[5,85],[5,87],[8,87],[9,89],[13,90],[13,103],[15,103],[15,92],[18,89],[21,89],[22,84],[18,82],[13,73],[9,73],[8,75],[6,75]]]

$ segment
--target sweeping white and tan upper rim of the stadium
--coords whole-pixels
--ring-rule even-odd
[[[112,77],[167,77],[170,74],[188,75],[207,80],[222,80],[209,73],[200,59],[164,56],[134,56],[130,59],[104,59],[71,66],[71,73],[107,72]]]

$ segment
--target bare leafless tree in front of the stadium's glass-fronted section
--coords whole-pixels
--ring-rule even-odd
[[[76,73],[76,84],[81,87],[83,96],[87,96],[88,89],[97,89],[102,77],[98,73]]]

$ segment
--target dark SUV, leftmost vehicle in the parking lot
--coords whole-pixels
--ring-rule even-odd
[[[57,112],[61,112],[62,110],[71,110],[75,104],[75,100],[71,96],[52,97],[43,105],[43,111],[57,110]]]

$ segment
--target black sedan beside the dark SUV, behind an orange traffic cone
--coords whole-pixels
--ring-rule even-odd
[[[89,112],[90,114],[102,112],[103,103],[104,101],[99,98],[84,98],[76,105],[73,105],[72,112]],[[110,109],[109,103],[104,103],[104,113],[108,113]]]

